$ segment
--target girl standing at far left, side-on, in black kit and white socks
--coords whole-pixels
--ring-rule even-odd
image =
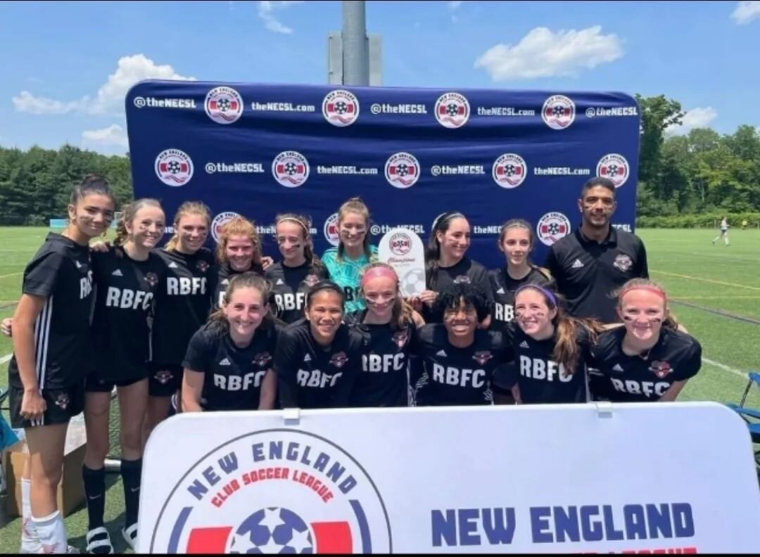
[[[89,243],[109,228],[115,204],[105,179],[86,176],[71,192],[65,230],[48,233],[24,270],[8,364],[11,426],[24,429],[29,448],[21,479],[22,553],[68,549],[55,494],[68,422],[84,407],[84,379],[93,365]]]

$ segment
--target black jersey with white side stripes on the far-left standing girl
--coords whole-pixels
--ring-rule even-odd
[[[24,294],[46,299],[34,322],[34,358],[41,389],[81,383],[92,366],[90,315],[93,272],[90,248],[48,233],[26,269]],[[16,356],[8,364],[8,382],[23,388]]]

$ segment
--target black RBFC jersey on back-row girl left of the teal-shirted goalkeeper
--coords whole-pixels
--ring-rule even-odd
[[[275,263],[267,268],[265,277],[271,285],[272,309],[277,317],[286,323],[293,323],[303,318],[303,308],[306,306],[306,293],[309,288],[320,280],[330,278],[325,267],[315,266],[311,261],[298,267]]]

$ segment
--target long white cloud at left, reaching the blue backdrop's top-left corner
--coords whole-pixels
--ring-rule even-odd
[[[145,55],[136,54],[119,59],[116,71],[108,76],[94,98],[87,95],[79,100],[61,101],[21,91],[13,97],[13,104],[18,112],[32,114],[120,114],[124,111],[124,97],[129,88],[144,79],[195,81],[176,73],[170,65],[157,65]]]

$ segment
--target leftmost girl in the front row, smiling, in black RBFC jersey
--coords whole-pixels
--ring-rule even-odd
[[[236,274],[220,309],[196,332],[182,362],[182,411],[271,410],[277,391],[277,328],[268,286],[255,273]]]

